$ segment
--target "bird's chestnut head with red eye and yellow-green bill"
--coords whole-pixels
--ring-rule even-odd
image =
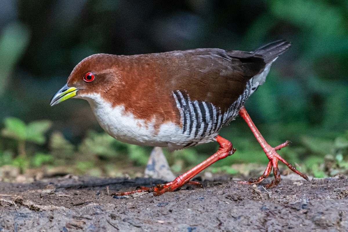
[[[93,98],[105,93],[118,80],[117,56],[95,54],[83,59],[72,70],[66,84],[53,96],[50,105],[56,105],[66,99]]]

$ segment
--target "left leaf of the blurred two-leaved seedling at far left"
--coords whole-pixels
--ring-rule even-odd
[[[25,140],[25,123],[18,118],[6,118],[5,128],[1,130],[1,134],[4,137],[14,138],[16,140]]]

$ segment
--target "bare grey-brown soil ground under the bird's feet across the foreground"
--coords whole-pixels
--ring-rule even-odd
[[[347,177],[308,182],[291,174],[267,190],[234,181],[222,176],[203,188],[118,199],[107,186],[111,193],[161,181],[70,175],[0,182],[0,231],[348,231]]]

